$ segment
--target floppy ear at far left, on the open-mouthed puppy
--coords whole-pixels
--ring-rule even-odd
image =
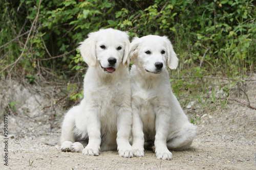
[[[86,62],[89,66],[93,67],[96,65],[96,34],[90,33],[88,38],[83,42],[79,43],[78,49],[82,55],[83,61]]]

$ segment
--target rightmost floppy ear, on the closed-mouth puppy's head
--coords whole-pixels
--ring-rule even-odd
[[[166,36],[163,36],[163,38],[167,48],[167,65],[170,69],[176,69],[178,66],[179,59],[177,58],[177,55],[174,52],[174,48],[170,40]]]

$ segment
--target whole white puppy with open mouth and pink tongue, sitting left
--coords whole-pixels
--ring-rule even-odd
[[[126,68],[130,63],[129,45],[129,36],[114,29],[90,33],[80,43],[79,50],[89,68],[83,99],[63,120],[62,151],[99,155],[99,150],[118,149],[119,156],[133,157],[129,143],[131,85]],[[77,141],[85,141],[86,147]]]

